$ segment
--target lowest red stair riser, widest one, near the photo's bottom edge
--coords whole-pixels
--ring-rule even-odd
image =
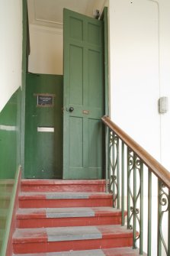
[[[53,252],[53,251],[79,251],[99,248],[117,248],[132,246],[132,238],[102,238],[83,241],[51,241],[28,242],[14,244],[14,254]]]

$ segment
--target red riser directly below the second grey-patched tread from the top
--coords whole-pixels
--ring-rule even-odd
[[[120,216],[104,217],[80,217],[80,218],[59,218],[59,219],[18,219],[18,228],[47,228],[67,227],[85,225],[118,225],[121,223]]]

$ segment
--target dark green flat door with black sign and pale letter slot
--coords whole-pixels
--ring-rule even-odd
[[[25,178],[62,178],[62,108],[63,76],[28,73],[25,114]]]

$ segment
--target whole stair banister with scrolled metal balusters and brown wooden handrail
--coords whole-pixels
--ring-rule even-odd
[[[113,206],[121,209],[122,225],[127,222],[133,230],[133,248],[170,256],[170,173],[109,117],[101,120],[108,145],[108,190]]]

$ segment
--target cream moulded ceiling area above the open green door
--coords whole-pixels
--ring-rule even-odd
[[[63,28],[63,8],[93,17],[105,0],[27,0],[29,23]]]

